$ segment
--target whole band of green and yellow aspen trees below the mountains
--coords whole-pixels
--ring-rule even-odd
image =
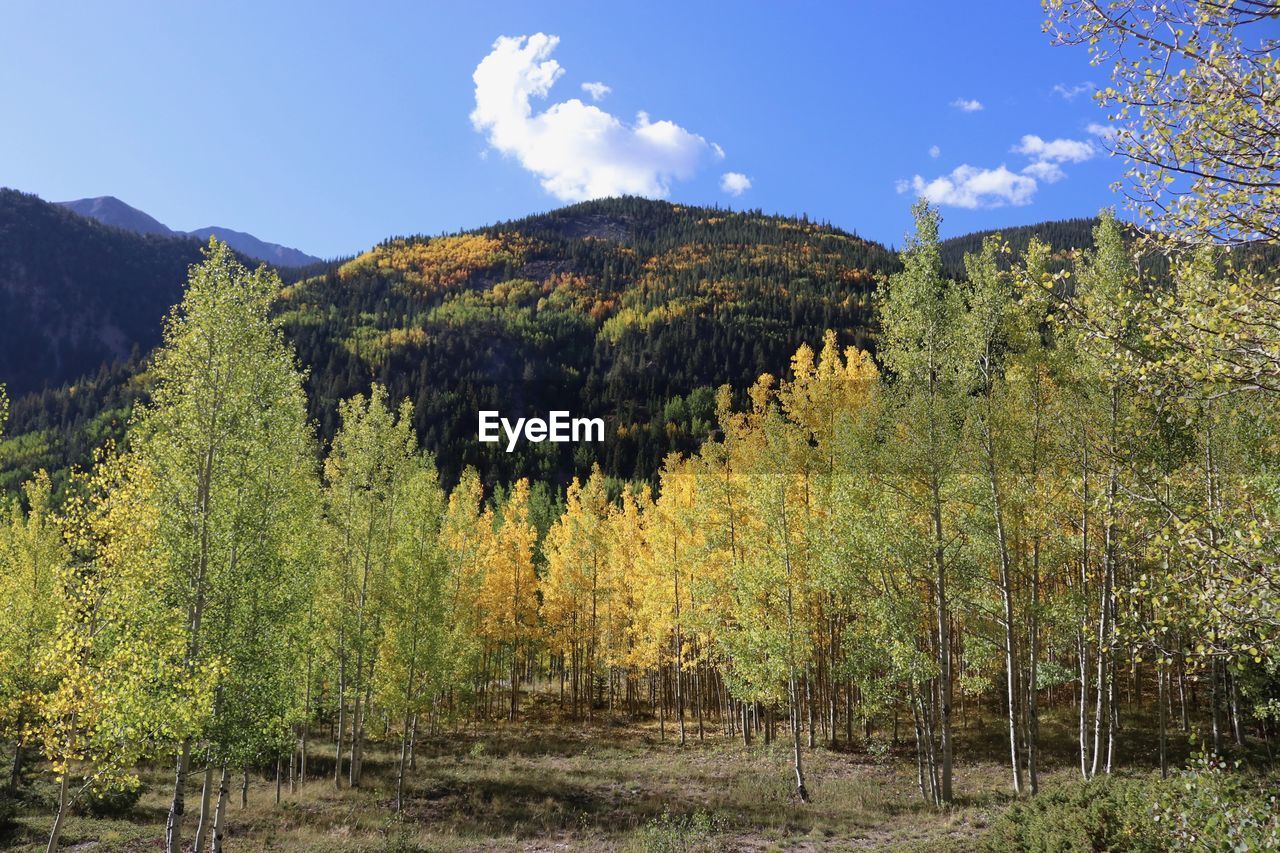
[[[1183,357],[1158,333],[1249,273],[1202,250],[1156,280],[1103,215],[1091,251],[991,237],[952,280],[915,216],[874,357],[828,333],[722,388],[716,435],[657,483],[594,467],[547,519],[525,479],[447,491],[378,386],[321,453],[279,280],[212,241],[125,443],[61,507],[36,473],[0,525],[0,726],[13,784],[41,754],[58,780],[49,849],[140,762],[173,767],[174,853],[223,849],[251,768],[278,797],[317,765],[360,786],[371,743],[399,809],[424,738],[532,697],[564,726],[782,739],[800,800],[812,751],[892,731],[947,806],[960,706],[998,715],[1025,794],[1046,713],[1085,779],[1138,719],[1166,772],[1174,733],[1274,736],[1280,407],[1215,346],[1235,315]]]

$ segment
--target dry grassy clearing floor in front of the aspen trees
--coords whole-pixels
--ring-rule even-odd
[[[422,744],[394,813],[394,760],[374,749],[358,790],[308,781],[275,804],[274,780],[251,777],[239,806],[233,777],[230,850],[968,850],[1011,800],[995,720],[959,733],[956,804],[925,806],[909,743],[897,749],[806,751],[810,803],[792,795],[787,743],[746,749],[718,731],[678,747],[672,727],[545,721]],[[905,736],[905,731],[904,731]],[[1042,785],[1074,777],[1066,727],[1046,725]],[[1006,747],[1007,748],[1007,747]],[[974,761],[973,756],[989,756]],[[1138,754],[1138,763],[1144,763]],[[315,761],[332,774],[332,757]],[[64,849],[154,850],[164,835],[165,771],[119,818],[72,817]],[[35,799],[41,799],[36,786]],[[47,783],[51,785],[51,783]],[[198,811],[188,793],[188,841]],[[51,792],[49,792],[51,793]],[[33,802],[0,847],[44,849],[50,811]]]

